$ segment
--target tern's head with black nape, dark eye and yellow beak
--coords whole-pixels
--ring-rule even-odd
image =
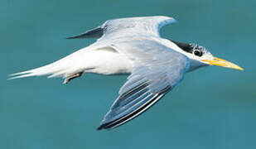
[[[219,65],[231,69],[243,70],[241,67],[235,65],[234,63],[211,55],[210,51],[206,50],[203,46],[198,46],[193,43],[181,43],[176,41],[172,42],[174,42],[176,46],[179,46],[181,50],[184,50],[184,54],[190,58],[191,64],[189,71],[196,70],[197,68],[206,65]]]

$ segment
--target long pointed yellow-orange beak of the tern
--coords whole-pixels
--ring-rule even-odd
[[[220,65],[222,67],[227,67],[227,68],[231,68],[231,69],[244,70],[241,67],[239,67],[238,65],[235,65],[234,63],[231,63],[227,60],[222,60],[218,57],[214,57],[214,60],[202,60],[202,61],[208,62],[209,65]]]

